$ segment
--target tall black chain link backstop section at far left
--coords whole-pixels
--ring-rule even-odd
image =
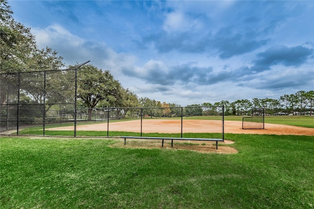
[[[75,70],[47,70],[0,74],[0,131],[74,121]],[[71,76],[64,83],[64,77]],[[63,81],[63,82],[62,82]],[[72,116],[72,118],[71,118]]]

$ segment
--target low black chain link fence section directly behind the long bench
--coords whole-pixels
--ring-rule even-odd
[[[197,138],[197,133],[209,133],[210,138],[223,139],[223,106],[94,108],[77,110],[77,136],[93,132],[95,137],[171,136]],[[70,131],[74,127],[60,126],[47,131]]]

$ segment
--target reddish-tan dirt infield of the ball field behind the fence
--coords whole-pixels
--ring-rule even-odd
[[[183,120],[183,133],[221,132],[219,120]],[[56,127],[47,130],[74,130],[73,126]],[[106,131],[107,123],[78,125],[77,131]],[[140,132],[140,120],[109,123],[109,131]],[[152,119],[143,120],[143,133],[180,133],[181,120]],[[265,123],[265,129],[242,129],[241,121],[224,122],[224,133],[232,134],[275,134],[314,136],[314,128]]]

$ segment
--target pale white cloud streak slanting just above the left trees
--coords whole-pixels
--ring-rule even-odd
[[[126,53],[116,53],[104,42],[84,40],[58,24],[46,28],[33,28],[39,48],[49,46],[64,58],[66,65],[74,65],[91,60],[91,64],[103,70],[119,71],[124,66],[132,65],[136,58]]]

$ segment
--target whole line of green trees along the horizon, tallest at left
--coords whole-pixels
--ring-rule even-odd
[[[34,76],[26,82],[25,91],[21,92],[20,98],[24,103],[42,104],[46,99],[46,111],[50,110],[53,104],[71,103],[74,100],[73,83],[75,77],[73,70],[64,70],[58,75],[48,75],[50,85],[39,90],[39,71],[62,70],[65,64],[58,52],[50,47],[38,48],[35,37],[31,34],[30,28],[17,22],[12,17],[11,7],[6,0],[0,0],[0,105],[8,104],[5,84],[14,82],[11,72],[32,71]],[[74,66],[68,66],[68,69]],[[38,72],[38,74],[36,74]],[[158,113],[160,116],[180,116],[180,104],[166,103],[150,99],[139,98],[129,89],[123,88],[121,83],[114,79],[109,70],[102,70],[93,65],[84,65],[78,70],[78,108],[88,108],[88,116],[91,119],[93,108],[105,107],[162,107]],[[10,97],[11,100],[16,98]],[[252,100],[241,99],[234,102],[222,100],[213,104],[204,102],[202,104],[191,104],[188,107],[198,106],[221,106],[225,107],[225,115],[249,115],[253,108],[264,108],[266,114],[281,112],[283,115],[312,115],[314,104],[314,91],[299,91],[294,94],[285,94],[278,99],[253,98]],[[60,107],[61,109],[61,107]],[[121,109],[123,111],[123,109]],[[153,111],[153,110],[152,110]],[[178,112],[179,111],[179,112]],[[153,115],[156,113],[148,113]],[[193,114],[193,113],[191,113]],[[198,113],[199,114],[199,113]],[[202,114],[206,114],[206,111]]]

